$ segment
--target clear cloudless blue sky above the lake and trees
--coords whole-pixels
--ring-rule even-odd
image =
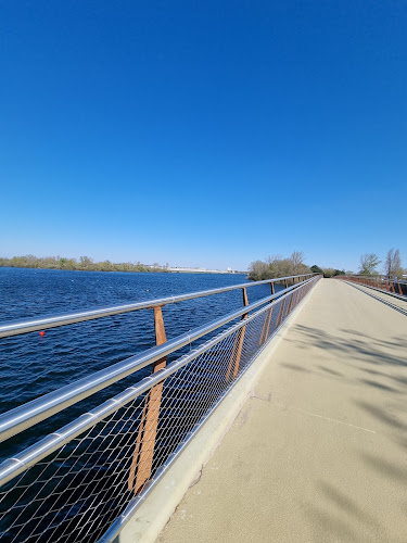
[[[0,253],[407,265],[407,2],[0,2]]]

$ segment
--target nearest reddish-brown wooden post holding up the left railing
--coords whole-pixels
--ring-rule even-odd
[[[161,306],[154,307],[154,323],[155,341],[157,345],[162,345],[167,341],[167,338],[165,334]],[[153,372],[155,374],[160,369],[165,368],[165,366],[166,357],[164,356],[154,363]],[[136,450],[132,455],[128,479],[128,490],[133,490],[135,494],[142,490],[151,476],[163,384],[164,382],[154,384],[149,394],[145,396],[144,409],[141,417],[139,433],[137,435]]]

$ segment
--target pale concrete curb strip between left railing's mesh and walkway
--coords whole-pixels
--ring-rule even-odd
[[[269,363],[274,351],[278,348],[317,287],[318,285],[308,292],[277,333],[269,340],[251,367],[243,374],[196,435],[186,446],[181,455],[145,497],[119,535],[114,540],[114,543],[152,543],[156,541],[188,489],[200,479],[203,467],[213,456],[247,397],[253,394],[254,388],[264,368]]]

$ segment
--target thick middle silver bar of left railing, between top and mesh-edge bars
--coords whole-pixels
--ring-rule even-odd
[[[271,300],[281,296],[282,294],[290,292],[293,289],[298,288],[302,285],[309,282],[311,279],[307,279],[301,283],[293,285],[288,289],[284,289],[276,294],[263,298],[257,302],[252,303],[241,310],[220,317],[212,323],[200,326],[194,330],[178,336],[171,340],[168,340],[162,345],[157,345],[140,354],[130,356],[122,362],[113,364],[112,366],[96,371],[94,374],[84,377],[71,384],[62,387],[53,392],[44,394],[31,402],[27,402],[24,405],[15,407],[2,415],[0,415],[0,442],[4,441],[16,433],[22,432],[26,428],[35,426],[36,424],[44,420],[46,418],[59,413],[71,405],[80,402],[85,397],[94,394],[96,392],[105,389],[106,387],[113,384],[114,382],[138,371],[139,369],[158,361],[160,358],[174,353],[178,349],[192,343],[193,341],[202,338],[206,333],[209,333],[217,328],[239,318],[244,313],[255,310],[263,304],[270,302]]]

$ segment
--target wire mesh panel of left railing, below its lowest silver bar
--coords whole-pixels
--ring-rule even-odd
[[[317,280],[244,315],[196,354],[171,363],[162,380],[7,482],[0,490],[1,541],[99,541],[149,491]]]

